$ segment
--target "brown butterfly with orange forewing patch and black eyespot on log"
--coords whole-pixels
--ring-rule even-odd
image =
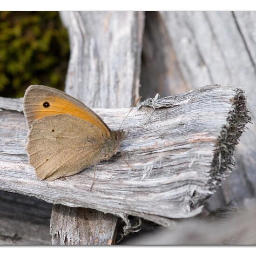
[[[53,181],[111,158],[126,133],[111,131],[90,108],[43,85],[27,88],[23,101],[28,162],[40,180]]]

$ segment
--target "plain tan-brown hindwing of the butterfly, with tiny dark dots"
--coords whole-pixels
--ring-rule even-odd
[[[72,115],[50,115],[34,121],[27,141],[29,163],[38,179],[73,175],[99,162],[105,142],[101,130]]]

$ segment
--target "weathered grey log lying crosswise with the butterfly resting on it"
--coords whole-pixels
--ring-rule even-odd
[[[154,101],[173,107],[131,111],[123,124],[128,136],[119,153],[96,165],[92,190],[92,168],[54,182],[36,180],[27,165],[23,113],[1,106],[0,189],[167,227],[171,218],[197,215],[233,167],[234,147],[249,121],[244,92],[214,85]],[[118,129],[129,109],[95,111]]]

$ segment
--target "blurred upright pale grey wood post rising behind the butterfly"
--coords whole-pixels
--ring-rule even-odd
[[[71,56],[67,94],[94,108],[129,108],[139,96],[143,12],[61,12]]]

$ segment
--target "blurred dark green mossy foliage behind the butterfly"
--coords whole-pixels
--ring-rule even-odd
[[[0,12],[0,96],[23,97],[31,84],[63,89],[68,59],[58,12]]]

